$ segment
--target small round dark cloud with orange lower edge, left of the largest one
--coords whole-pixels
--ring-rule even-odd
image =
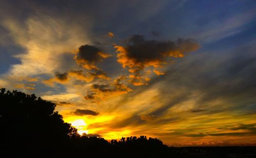
[[[98,67],[95,65],[95,63],[100,62],[108,57],[110,57],[110,55],[104,53],[99,48],[86,44],[79,47],[74,59],[76,60],[77,64],[82,65],[88,70],[98,70]]]

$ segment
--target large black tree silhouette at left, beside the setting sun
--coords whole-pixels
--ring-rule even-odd
[[[77,129],[62,120],[55,104],[17,91],[0,92],[0,140],[2,154],[41,155],[61,150],[77,137]]]

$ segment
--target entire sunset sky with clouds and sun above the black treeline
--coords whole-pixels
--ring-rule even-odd
[[[256,144],[255,1],[0,1],[0,87],[106,140]]]

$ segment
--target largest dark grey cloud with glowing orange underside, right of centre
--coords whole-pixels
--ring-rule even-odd
[[[131,76],[136,79],[136,81],[132,80],[132,83],[143,85],[147,80],[143,79],[139,72],[145,67],[153,66],[157,75],[163,75],[164,73],[157,71],[156,67],[164,67],[173,58],[184,57],[184,53],[197,50],[199,44],[194,39],[157,41],[146,40],[142,35],[133,35],[126,46],[115,45],[114,48],[118,52],[117,61],[122,67],[129,67],[129,72],[137,73]]]

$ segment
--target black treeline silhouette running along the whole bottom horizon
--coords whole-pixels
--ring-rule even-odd
[[[0,157],[222,157],[256,155],[255,147],[167,147],[156,138],[110,142],[80,136],[54,111],[55,104],[17,91],[0,90]],[[218,153],[218,154],[216,154]]]

